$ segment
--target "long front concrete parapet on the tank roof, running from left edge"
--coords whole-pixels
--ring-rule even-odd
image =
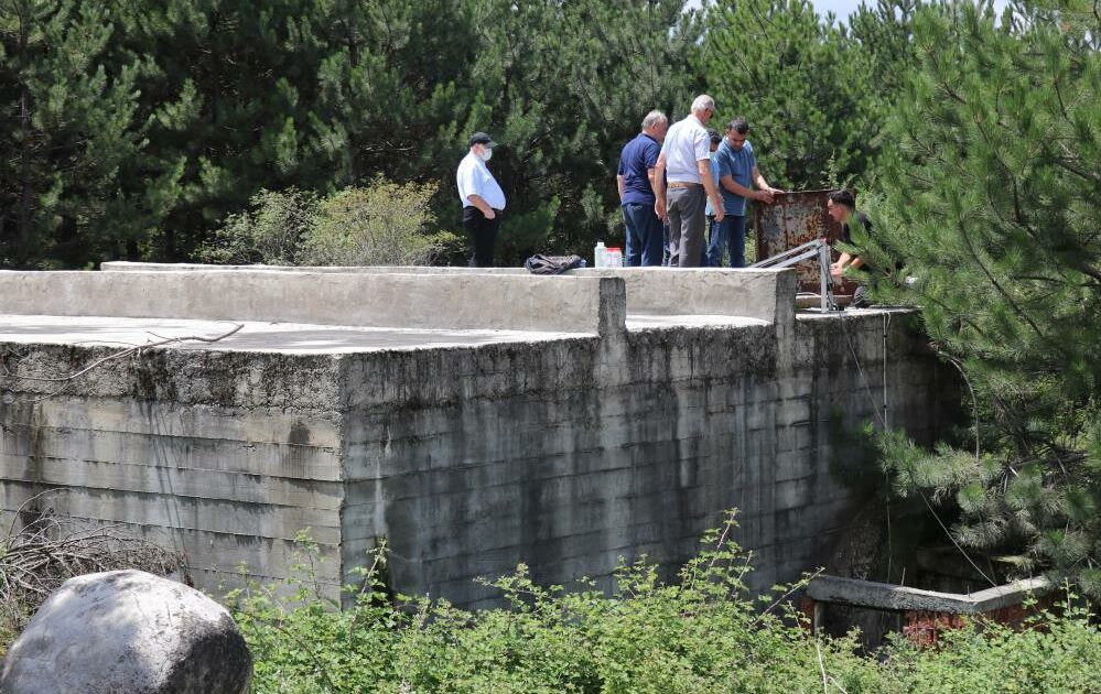
[[[0,272],[0,314],[571,334],[625,330],[624,282],[487,274]]]

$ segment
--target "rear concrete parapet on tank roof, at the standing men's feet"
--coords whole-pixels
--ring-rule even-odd
[[[523,268],[301,268],[290,265],[201,265],[105,262],[107,272],[244,272],[432,274],[447,276],[535,276]],[[585,268],[570,278],[618,278],[626,283],[627,313],[633,315],[744,316],[789,325],[795,321],[798,275],[795,270],[723,270],[670,268]]]

